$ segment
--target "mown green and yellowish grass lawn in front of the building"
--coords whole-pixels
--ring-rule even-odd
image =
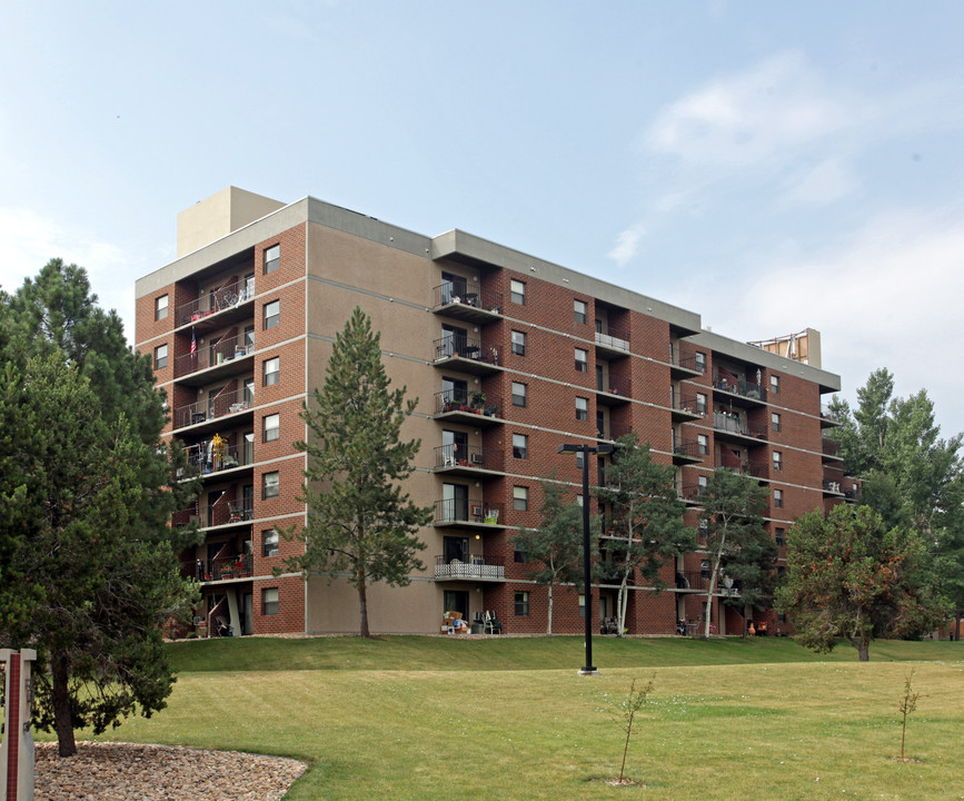
[[[817,657],[791,640],[245,639],[170,646],[167,710],[105,739],[310,763],[327,799],[962,799],[964,645],[875,642]],[[902,763],[897,703],[922,693]],[[656,673],[627,775],[609,702]],[[238,777],[244,781],[244,777]]]

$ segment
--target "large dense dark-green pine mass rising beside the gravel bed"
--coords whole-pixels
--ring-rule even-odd
[[[188,611],[168,527],[197,494],[160,439],[150,359],[86,273],[59,259],[0,297],[0,642],[36,647],[37,723],[73,729],[161,709],[173,682],[160,623]]]

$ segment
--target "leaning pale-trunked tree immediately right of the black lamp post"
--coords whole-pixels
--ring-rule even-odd
[[[626,627],[629,580],[638,570],[643,580],[660,590],[660,568],[675,564],[676,554],[693,551],[696,537],[684,525],[686,505],[676,495],[670,465],[653,461],[649,444],[640,445],[635,432],[616,441],[606,484],[596,492],[607,507],[604,536],[615,552],[612,566],[619,582],[616,616],[619,636]]]

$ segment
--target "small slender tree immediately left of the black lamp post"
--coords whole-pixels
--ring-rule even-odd
[[[515,550],[524,552],[527,561],[534,564],[529,577],[546,586],[546,634],[553,633],[553,587],[557,584],[580,587],[584,582],[583,510],[576,503],[566,503],[564,496],[565,490],[560,484],[543,482],[539,527],[520,528],[513,538]]]

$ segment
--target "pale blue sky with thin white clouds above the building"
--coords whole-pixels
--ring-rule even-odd
[[[0,6],[7,290],[135,279],[228,185],[454,227],[698,312],[809,326],[964,429],[964,4]],[[956,366],[955,366],[956,365]]]

